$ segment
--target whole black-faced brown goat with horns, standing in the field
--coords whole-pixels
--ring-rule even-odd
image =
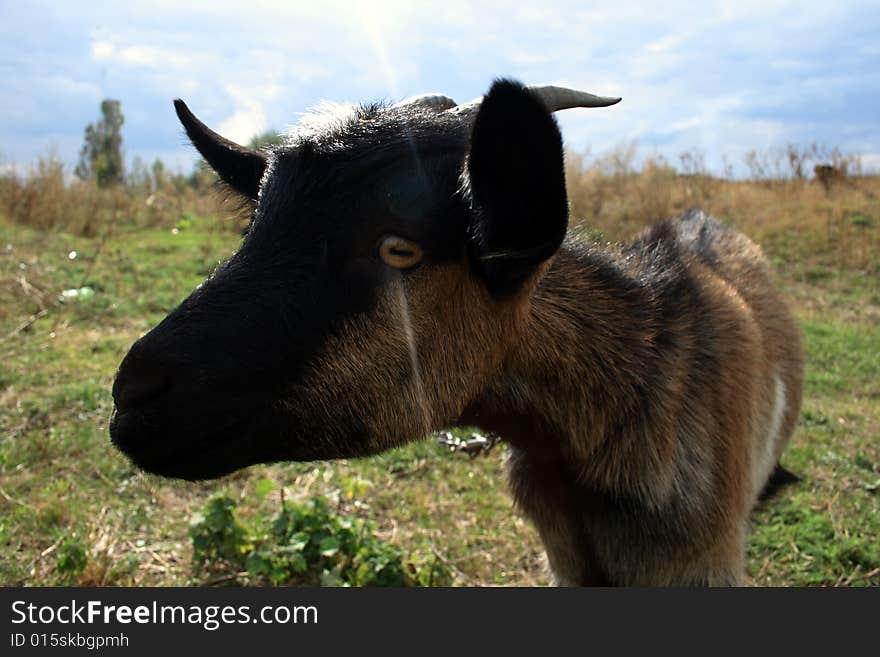
[[[760,248],[700,211],[626,246],[567,235],[552,113],[618,100],[497,80],[312,119],[268,155],[176,101],[256,209],[126,355],[114,444],[205,479],[479,426],[509,445],[555,583],[742,583],[798,416],[798,331]]]

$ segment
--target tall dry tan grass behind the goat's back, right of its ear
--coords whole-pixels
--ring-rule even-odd
[[[796,175],[759,180],[726,180],[702,166],[679,173],[662,160],[632,167],[629,148],[591,163],[568,157],[568,190],[573,224],[610,241],[626,239],[664,217],[700,207],[764,245],[771,256],[788,261],[798,254],[820,258],[826,266],[876,273],[880,260],[877,218],[872,212],[880,177],[849,176],[826,189]],[[698,155],[683,156],[699,163]],[[798,169],[803,164],[797,165]],[[851,167],[853,168],[853,167]]]

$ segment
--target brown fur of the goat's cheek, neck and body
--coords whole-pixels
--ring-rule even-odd
[[[456,423],[502,435],[559,584],[741,583],[749,513],[796,422],[801,349],[761,250],[714,223],[706,242],[693,227],[707,219],[689,220],[660,237],[689,282],[665,301],[648,233],[626,252],[568,241],[503,302],[464,258],[425,265],[330,341],[296,404],[370,409],[372,451]]]

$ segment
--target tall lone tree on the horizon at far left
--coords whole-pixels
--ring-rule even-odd
[[[118,100],[101,101],[101,118],[86,126],[85,141],[74,170],[78,178],[94,180],[99,187],[124,181],[121,132],[124,122]]]

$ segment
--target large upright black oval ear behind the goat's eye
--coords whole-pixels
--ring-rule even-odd
[[[556,252],[568,227],[562,136],[520,83],[497,80],[483,98],[466,183],[475,267],[494,297],[508,296]]]

